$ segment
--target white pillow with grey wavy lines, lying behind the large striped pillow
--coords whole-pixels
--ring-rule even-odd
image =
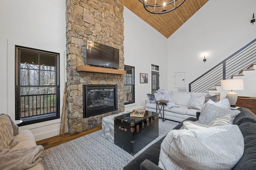
[[[201,124],[195,121],[184,121],[183,126],[180,129],[204,129],[214,126],[233,125],[231,115],[225,115],[214,119],[209,125]]]

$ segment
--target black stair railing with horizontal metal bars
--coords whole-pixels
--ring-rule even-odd
[[[189,92],[207,92],[208,89],[219,84],[220,80],[230,79],[234,74],[254,63],[256,63],[256,39],[188,84]]]

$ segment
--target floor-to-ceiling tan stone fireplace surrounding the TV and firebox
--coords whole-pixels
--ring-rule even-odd
[[[100,67],[94,67],[93,72],[78,69],[86,66],[86,41],[90,40],[119,49],[118,70],[124,70],[123,2],[124,0],[66,0],[67,118],[70,134],[100,126],[102,117],[124,111],[123,74],[112,72],[114,69],[111,68],[109,72],[102,71]],[[84,115],[85,85],[115,86],[117,108],[101,114]],[[103,90],[102,94],[99,92],[103,98],[99,96],[98,100],[91,101],[94,105],[92,107],[104,105],[104,98],[108,96],[106,91],[108,90]]]

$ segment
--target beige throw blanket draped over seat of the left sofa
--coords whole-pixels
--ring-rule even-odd
[[[43,156],[42,145],[0,150],[0,170],[24,170],[35,166]]]

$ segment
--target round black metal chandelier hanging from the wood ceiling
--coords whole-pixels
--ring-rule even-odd
[[[185,0],[139,0],[152,14],[164,14],[178,8]],[[161,4],[162,3],[162,4]]]

